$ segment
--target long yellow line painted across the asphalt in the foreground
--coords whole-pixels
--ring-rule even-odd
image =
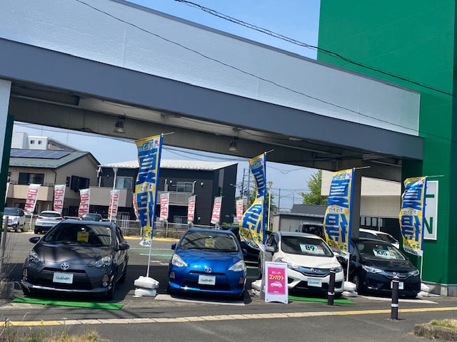
[[[456,306],[442,308],[418,308],[401,309],[399,314],[406,312],[424,311],[457,311]],[[303,318],[316,316],[351,316],[351,315],[370,315],[370,314],[389,314],[390,309],[380,310],[348,310],[348,311],[315,311],[315,312],[289,312],[289,313],[269,313],[269,314],[233,314],[216,316],[183,316],[183,317],[157,317],[157,318],[99,318],[99,319],[71,319],[60,321],[6,321],[2,326],[71,326],[79,324],[131,324],[131,323],[188,323],[199,321],[233,321],[247,319],[271,319],[271,318]]]

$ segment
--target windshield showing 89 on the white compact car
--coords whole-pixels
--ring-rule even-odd
[[[287,237],[283,236],[281,249],[288,254],[318,255],[332,257],[333,252],[322,239],[312,237]]]

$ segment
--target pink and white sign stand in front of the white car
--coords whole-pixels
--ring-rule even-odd
[[[267,261],[265,269],[265,301],[288,304],[287,264]]]

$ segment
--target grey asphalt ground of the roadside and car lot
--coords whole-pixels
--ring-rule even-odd
[[[8,266],[19,288],[21,264],[34,234],[17,233]],[[252,291],[243,301],[217,297],[181,297],[166,294],[166,271],[171,242],[154,241],[141,247],[131,244],[127,279],[119,284],[112,302],[120,310],[86,309],[40,304],[18,304],[0,300],[0,319],[19,331],[45,329],[49,332],[80,333],[94,330],[109,341],[418,341],[413,328],[431,319],[456,318],[457,298],[447,296],[400,299],[398,319],[391,318],[391,299],[371,296],[348,297],[350,303],[289,301],[266,303]],[[156,296],[135,296],[134,280],[149,276],[159,281]],[[248,266],[248,289],[257,270]],[[53,296],[52,298],[56,298]],[[64,299],[72,299],[65,296]],[[74,298],[81,300],[81,298]],[[87,299],[84,299],[87,300]]]

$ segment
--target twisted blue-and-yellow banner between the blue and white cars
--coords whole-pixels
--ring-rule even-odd
[[[256,198],[251,207],[246,209],[240,222],[239,232],[246,239],[256,244],[265,243],[265,195],[266,195],[266,153],[249,160],[256,184]]]

